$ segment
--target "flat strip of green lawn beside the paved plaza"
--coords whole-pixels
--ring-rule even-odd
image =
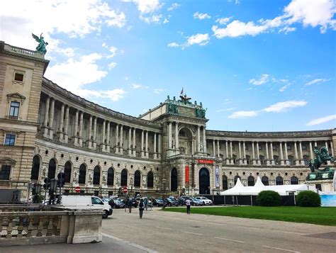
[[[186,208],[165,208],[164,211],[186,213]],[[293,223],[312,223],[318,225],[336,226],[336,208],[301,208],[295,206],[191,207],[191,213],[254,218],[261,220],[284,220]]]

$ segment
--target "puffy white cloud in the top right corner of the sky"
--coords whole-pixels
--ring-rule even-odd
[[[286,21],[289,24],[301,22],[303,26],[320,26],[321,33],[329,27],[336,28],[336,21],[332,19],[336,13],[334,0],[293,0],[284,13],[289,18]]]

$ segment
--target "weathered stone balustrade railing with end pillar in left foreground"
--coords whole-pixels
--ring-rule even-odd
[[[0,247],[101,242],[102,210],[39,206],[0,206],[0,210]]]

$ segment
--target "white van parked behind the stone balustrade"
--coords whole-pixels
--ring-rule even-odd
[[[108,218],[108,215],[113,213],[111,206],[96,196],[63,195],[62,205],[74,209],[102,209],[103,218]]]

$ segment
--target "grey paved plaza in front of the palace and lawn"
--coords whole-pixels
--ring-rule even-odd
[[[192,209],[191,209],[192,212]],[[6,247],[1,252],[334,252],[336,228],[273,220],[113,211],[99,244]]]

